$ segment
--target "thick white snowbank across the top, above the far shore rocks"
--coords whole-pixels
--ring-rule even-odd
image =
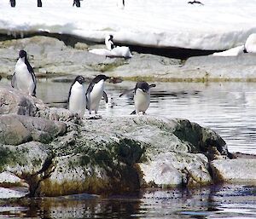
[[[113,34],[117,43],[154,47],[225,50],[241,46],[256,32],[256,1],[129,0],[120,9],[119,0],[84,0],[81,8],[72,0],[0,1],[0,32],[65,33],[103,42]],[[60,3],[61,2],[61,3]]]

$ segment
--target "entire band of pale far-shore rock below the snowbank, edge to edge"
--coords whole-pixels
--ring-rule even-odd
[[[108,76],[147,81],[226,81],[255,80],[255,54],[197,56],[187,61],[160,55],[132,52],[131,59],[109,58],[90,53],[105,45],[76,43],[74,48],[54,37],[27,37],[0,42],[0,72],[10,76],[15,69],[17,50],[25,49],[35,73],[40,77],[79,75]]]

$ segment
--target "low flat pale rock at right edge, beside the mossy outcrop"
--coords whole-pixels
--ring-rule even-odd
[[[255,158],[216,159],[210,165],[217,182],[256,182]]]

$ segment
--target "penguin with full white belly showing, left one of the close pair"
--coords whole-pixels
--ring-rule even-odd
[[[73,113],[78,113],[80,118],[83,118],[86,107],[84,81],[85,79],[81,75],[74,79],[67,99],[68,109]]]

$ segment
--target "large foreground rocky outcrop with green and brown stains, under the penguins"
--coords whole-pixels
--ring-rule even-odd
[[[3,94],[8,91],[17,100],[22,96],[13,89]],[[9,187],[25,183],[30,196],[204,186],[218,181],[222,164],[230,160],[218,134],[185,119],[79,119],[32,101],[33,116],[7,114],[7,107],[0,118],[0,172],[18,177],[20,182],[9,182]]]

